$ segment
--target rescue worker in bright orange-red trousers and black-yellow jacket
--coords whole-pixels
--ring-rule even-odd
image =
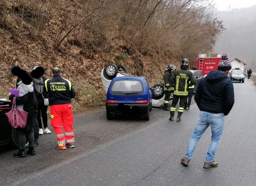
[[[45,80],[45,88],[49,98],[51,125],[58,141],[56,148],[63,150],[66,149],[66,146],[70,148],[75,146],[74,118],[71,106],[75,90],[71,82],[61,76],[60,68],[54,67],[52,73],[53,77]]]

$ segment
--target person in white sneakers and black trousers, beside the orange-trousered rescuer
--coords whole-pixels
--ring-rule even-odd
[[[46,78],[43,76],[45,70],[41,66],[35,66],[31,72],[33,77],[33,85],[36,92],[36,97],[38,101],[38,110],[37,110],[37,121],[39,126],[39,134],[51,133],[51,130],[48,128],[48,117],[47,109],[48,106],[44,105],[44,97],[47,98],[47,94],[44,90],[44,81]],[[42,119],[41,119],[42,116]],[[43,121],[43,123],[42,123]],[[43,126],[44,125],[44,129]]]

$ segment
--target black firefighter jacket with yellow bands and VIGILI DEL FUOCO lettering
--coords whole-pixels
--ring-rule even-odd
[[[181,69],[173,72],[171,84],[173,84],[174,87],[174,95],[187,96],[188,87],[196,84],[196,78],[193,73],[187,69],[187,67],[182,66]]]

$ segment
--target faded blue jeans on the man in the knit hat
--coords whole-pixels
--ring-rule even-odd
[[[209,146],[205,161],[212,162],[213,158],[215,157],[215,152],[219,146],[220,137],[223,131],[224,113],[210,113],[207,111],[200,111],[193,135],[188,143],[187,152],[185,155],[187,159],[192,158],[196,144],[208,126],[211,126],[212,135],[211,144]]]

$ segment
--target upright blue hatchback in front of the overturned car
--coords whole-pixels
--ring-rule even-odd
[[[152,89],[146,77],[115,77],[106,93],[106,117],[112,119],[118,113],[141,114],[145,120],[149,120],[152,97]]]

